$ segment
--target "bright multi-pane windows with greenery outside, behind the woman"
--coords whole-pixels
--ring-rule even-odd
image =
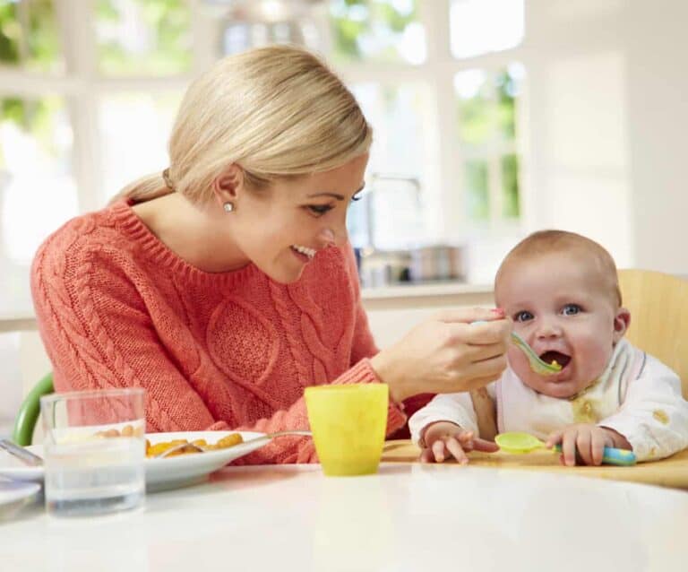
[[[518,228],[523,10],[522,0],[0,3],[0,313],[30,313],[30,260],[49,232],[167,166],[190,79],[269,42],[322,52],[374,126],[365,198],[349,214],[355,245]]]

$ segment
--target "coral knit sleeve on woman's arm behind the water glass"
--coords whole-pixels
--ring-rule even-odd
[[[94,250],[50,240],[34,259],[31,290],[56,390],[144,387],[148,431],[228,429],[169,359],[132,279],[99,262]]]

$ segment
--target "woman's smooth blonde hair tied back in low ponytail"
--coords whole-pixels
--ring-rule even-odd
[[[186,91],[166,177],[134,181],[113,200],[176,191],[201,203],[232,163],[260,189],[340,167],[367,152],[372,136],[357,100],[321,59],[293,46],[255,48],[220,60]]]

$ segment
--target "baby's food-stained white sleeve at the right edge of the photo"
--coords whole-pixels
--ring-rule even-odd
[[[674,455],[688,446],[688,402],[681,394],[681,379],[647,355],[641,376],[629,382],[620,409],[598,425],[628,439],[638,461]]]

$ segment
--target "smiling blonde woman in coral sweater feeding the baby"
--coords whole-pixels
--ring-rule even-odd
[[[345,227],[371,140],[357,101],[303,49],[203,74],[169,168],[39,249],[32,292],[57,391],[145,387],[149,431],[276,431],[307,427],[305,386],[386,383],[392,432],[409,396],[499,377],[511,323],[488,310],[375,347]],[[314,460],[309,439],[278,441],[245,461]]]

